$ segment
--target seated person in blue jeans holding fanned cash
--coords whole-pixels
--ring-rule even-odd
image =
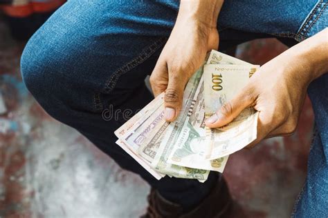
[[[77,1],[59,8],[28,41],[21,74],[28,90],[55,119],[77,129],[152,186],[145,217],[221,217],[230,206],[221,175],[201,184],[156,180],[116,145],[123,117],[102,110],[138,110],[165,91],[165,119],[179,115],[185,83],[211,49],[276,37],[291,47],[268,61],[243,92],[214,117],[222,126],[248,106],[259,111],[258,141],[290,135],[308,90],[316,117],[307,181],[295,217],[328,215],[327,1]],[[220,45],[219,45],[220,42]],[[253,143],[250,146],[254,146]]]

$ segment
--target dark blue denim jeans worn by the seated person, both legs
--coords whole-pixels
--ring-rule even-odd
[[[210,192],[219,175],[204,184],[165,177],[159,181],[116,145],[113,131],[153,99],[144,79],[152,72],[174,26],[179,0],[78,1],[57,10],[28,41],[21,73],[28,90],[55,119],[77,129],[122,168],[136,172],[163,197],[186,210]],[[220,50],[261,37],[290,46],[328,26],[327,1],[226,1],[218,19]],[[307,182],[295,217],[328,215],[328,75],[309,86],[316,132]]]

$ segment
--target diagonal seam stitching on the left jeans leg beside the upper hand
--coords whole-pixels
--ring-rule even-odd
[[[138,66],[140,63],[143,63],[143,61],[147,60],[158,48],[161,48],[167,38],[161,37],[160,39],[156,40],[152,45],[148,46],[147,48],[143,49],[143,51],[134,59],[129,61],[129,63],[125,64],[125,66],[122,66],[116,72],[114,72],[111,77],[107,80],[104,86],[104,93],[109,93],[111,90],[113,90],[116,81],[121,75],[124,75],[129,70],[132,70],[136,66]]]

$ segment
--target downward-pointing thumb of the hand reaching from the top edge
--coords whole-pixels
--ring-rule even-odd
[[[185,83],[187,83],[187,79],[181,77],[182,75],[179,72],[169,73],[169,81],[164,96],[164,117],[166,121],[174,121],[181,110],[183,90]]]

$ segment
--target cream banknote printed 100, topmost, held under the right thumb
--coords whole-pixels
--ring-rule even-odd
[[[206,117],[230,101],[246,86],[259,66],[207,64],[204,66],[204,95]],[[206,159],[217,159],[230,155],[247,146],[257,137],[258,112],[246,108],[225,128],[212,128],[207,132],[210,139]]]

